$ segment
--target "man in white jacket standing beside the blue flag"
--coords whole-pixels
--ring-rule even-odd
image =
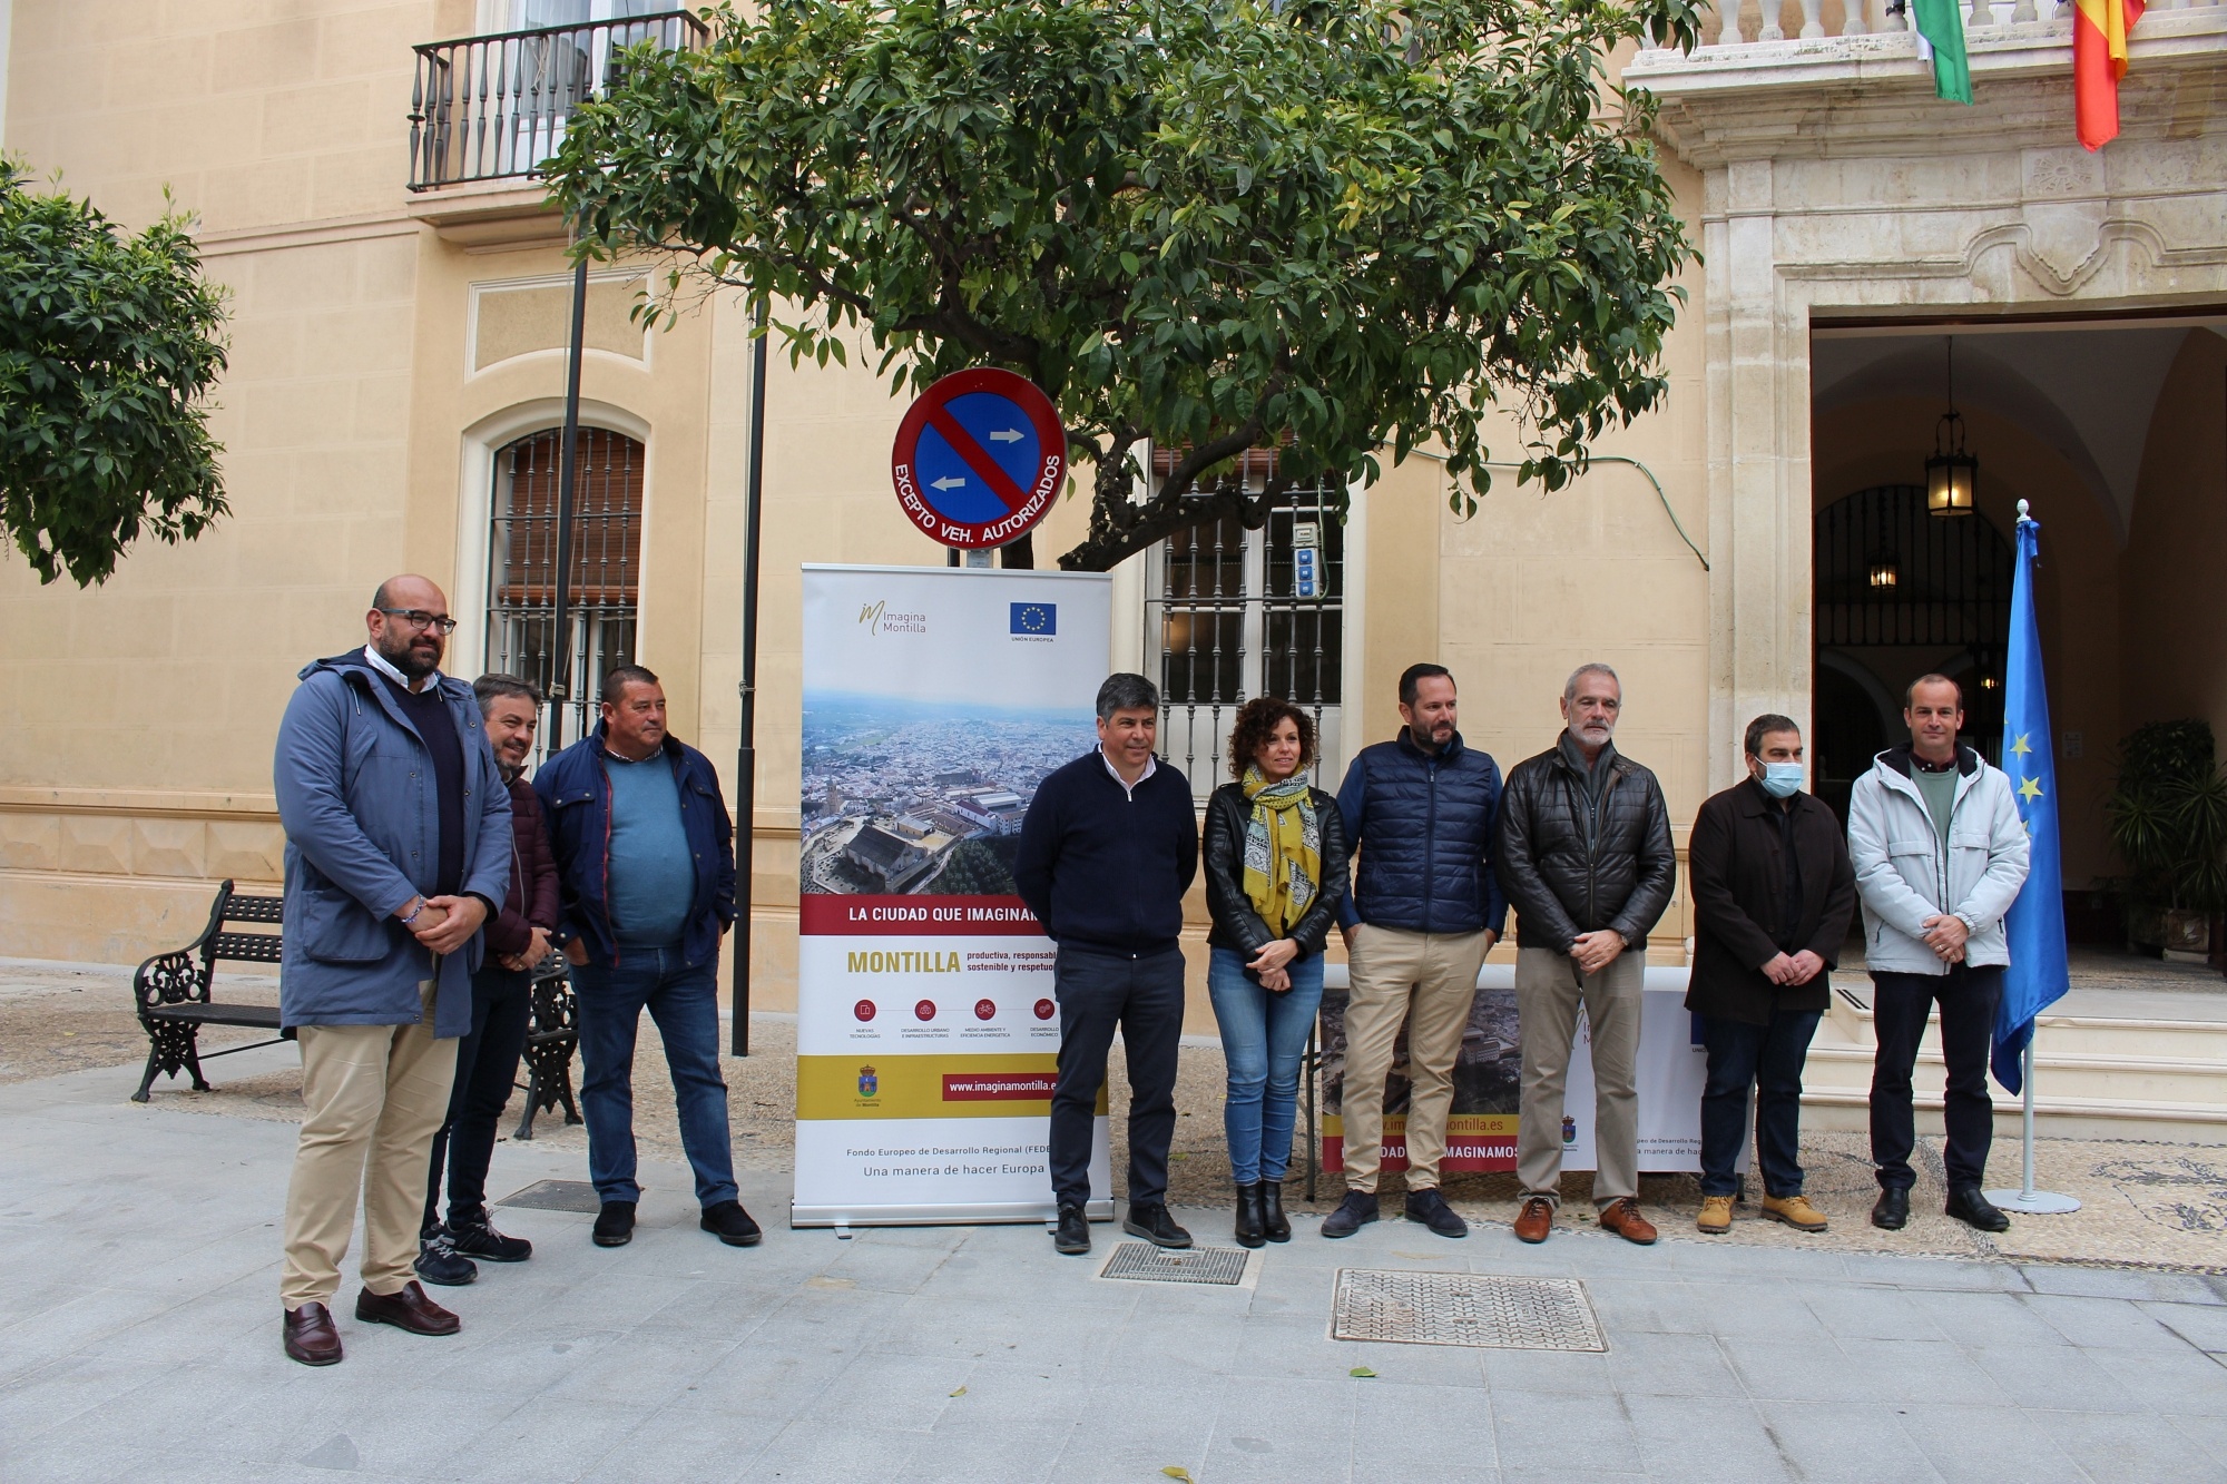
[[[1995,1136],[1986,1056],[2011,963],[2002,916],[2027,882],[2027,827],[2011,780],[1958,746],[1964,693],[1946,675],[1920,677],[1902,720],[1909,746],[1880,753],[1848,800],[1848,856],[1864,900],[1864,960],[1880,1052],[1871,1070],[1871,1163],[1880,1201],[1871,1223],[1911,1219],[1911,1070],[1929,1012],[1940,1005],[1949,1090],[1949,1214],[1982,1232],[2009,1230],[1980,1181]]]

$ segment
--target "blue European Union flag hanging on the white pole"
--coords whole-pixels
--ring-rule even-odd
[[[2011,967],[2002,974],[2002,1009],[1995,1014],[1995,1081],[2020,1092],[2020,1054],[2033,1041],[2033,1018],[2069,987],[2064,965],[2064,867],[2058,853],[2058,764],[2049,746],[2049,689],[2042,684],[2042,640],[2033,626],[2033,564],[2040,557],[2040,521],[2018,501],[2018,570],[2011,579],[2011,655],[2004,671],[2002,771],[2018,791],[2018,818],[2027,824],[2031,867],[2027,885],[2011,902],[2004,931]]]

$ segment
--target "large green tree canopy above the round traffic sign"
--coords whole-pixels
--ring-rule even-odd
[[[1096,466],[1102,570],[1287,486],[1443,450],[1456,508],[1664,394],[1693,250],[1606,80],[1693,0],[775,0],[637,49],[548,174],[581,250],[673,254],[791,359],[860,330],[893,392],[1027,374]],[[1140,492],[1142,448],[1174,470]],[[1278,450],[1267,492],[1218,479]],[[1194,497],[1198,495],[1198,497]]]

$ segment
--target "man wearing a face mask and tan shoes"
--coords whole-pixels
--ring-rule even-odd
[[[1713,1237],[1733,1230],[1733,1165],[1755,1090],[1764,1214],[1822,1232],[1824,1214],[1802,1194],[1802,1063],[1855,914],[1855,867],[1840,820],[1802,791],[1802,729],[1759,715],[1746,742],[1748,780],[1701,804],[1688,847],[1686,1009],[1701,1016],[1708,1045],[1697,1226]]]

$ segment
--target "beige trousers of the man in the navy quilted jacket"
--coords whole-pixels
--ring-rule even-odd
[[[1477,1003],[1485,934],[1354,929],[1345,1003],[1345,1185],[1376,1192],[1385,1141],[1385,1074],[1407,1025],[1407,1190],[1436,1190],[1445,1114],[1454,1105],[1454,1056]]]

